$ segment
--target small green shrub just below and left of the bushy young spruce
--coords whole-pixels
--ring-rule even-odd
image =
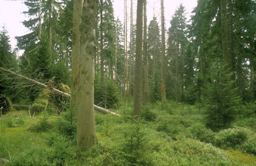
[[[205,125],[196,123],[195,125],[192,125],[191,127],[187,128],[186,137],[198,139],[205,143],[212,143],[214,133],[210,129],[206,128]]]

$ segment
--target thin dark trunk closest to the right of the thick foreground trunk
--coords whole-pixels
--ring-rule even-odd
[[[103,0],[100,0],[100,77],[104,83],[104,54],[103,54]]]

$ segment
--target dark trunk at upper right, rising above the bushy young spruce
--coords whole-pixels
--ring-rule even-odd
[[[229,58],[229,30],[227,23],[227,0],[221,1],[221,29],[222,29],[222,45],[223,45],[223,57],[226,60],[226,64],[230,67]]]

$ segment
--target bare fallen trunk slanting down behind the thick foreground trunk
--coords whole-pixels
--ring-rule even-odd
[[[24,80],[30,81],[31,83],[35,83],[36,85],[42,86],[43,88],[48,88],[48,86],[43,84],[43,83],[40,83],[40,82],[38,82],[36,80],[32,80],[31,78],[25,77],[25,76],[20,75],[18,73],[12,72],[11,70],[8,70],[6,68],[0,67],[0,70],[3,70],[4,72],[7,72],[7,73],[11,73],[12,75],[15,75],[15,76],[17,76],[19,78],[23,78]],[[60,91],[58,89],[51,88],[50,90],[53,91],[53,93],[57,93],[57,94],[60,94],[61,96],[64,96],[65,98],[71,98],[70,94],[64,93],[63,91]],[[110,110],[104,109],[104,108],[96,106],[96,105],[94,105],[94,110],[96,110],[98,112],[101,112],[103,114],[112,114],[112,115],[116,115],[116,116],[121,116],[119,114],[116,114],[115,112],[112,112]]]

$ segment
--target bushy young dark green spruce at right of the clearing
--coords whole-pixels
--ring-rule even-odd
[[[231,80],[232,73],[226,69],[223,62],[216,62],[211,67],[211,75],[203,92],[206,106],[206,120],[208,127],[212,129],[230,127],[236,118],[237,110],[241,102]]]

